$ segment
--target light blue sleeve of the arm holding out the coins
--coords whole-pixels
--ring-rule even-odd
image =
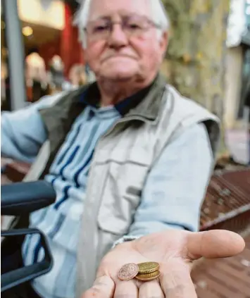
[[[199,230],[213,166],[206,126],[199,123],[182,131],[151,168],[130,232],[115,244],[166,229]]]

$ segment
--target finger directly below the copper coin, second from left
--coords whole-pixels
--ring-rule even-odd
[[[115,283],[114,298],[138,298],[138,288],[135,280],[118,280]]]

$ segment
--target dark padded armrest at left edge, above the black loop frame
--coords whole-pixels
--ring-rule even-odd
[[[56,201],[53,186],[44,180],[1,186],[1,215],[21,216]]]

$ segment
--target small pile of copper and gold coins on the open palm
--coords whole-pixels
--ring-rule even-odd
[[[161,273],[158,270],[159,264],[156,262],[127,263],[118,271],[120,280],[131,280],[136,278],[140,281],[149,281],[158,278]]]

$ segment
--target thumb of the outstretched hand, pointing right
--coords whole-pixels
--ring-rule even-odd
[[[235,256],[245,247],[240,235],[227,230],[191,232],[187,237],[187,252],[191,259]]]

